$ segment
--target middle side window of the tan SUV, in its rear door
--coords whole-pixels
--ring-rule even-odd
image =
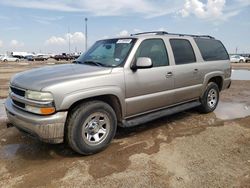
[[[193,47],[188,40],[170,39],[170,44],[176,65],[196,62]]]

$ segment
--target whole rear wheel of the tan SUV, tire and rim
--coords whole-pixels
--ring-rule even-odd
[[[218,85],[214,82],[209,82],[205,93],[203,94],[201,101],[201,106],[199,110],[202,113],[210,113],[215,110],[218,105],[220,98]]]

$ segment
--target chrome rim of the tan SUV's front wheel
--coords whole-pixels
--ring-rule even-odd
[[[82,137],[88,145],[98,145],[108,136],[110,119],[106,113],[96,112],[83,123]]]

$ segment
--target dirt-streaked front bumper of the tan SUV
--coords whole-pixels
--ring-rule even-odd
[[[62,143],[67,112],[40,116],[16,108],[11,99],[5,101],[7,117],[22,132],[38,137],[47,143]]]

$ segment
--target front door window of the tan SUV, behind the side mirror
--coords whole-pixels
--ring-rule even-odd
[[[161,39],[147,39],[139,46],[136,55],[138,57],[149,57],[153,67],[168,65],[168,55],[164,42]]]

